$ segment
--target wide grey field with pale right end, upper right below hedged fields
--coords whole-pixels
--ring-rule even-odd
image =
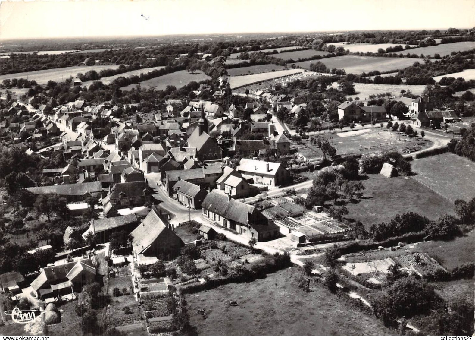
[[[413,65],[414,58],[385,58],[367,56],[339,56],[324,59],[307,60],[295,63],[299,68],[310,68],[310,64],[321,61],[329,69],[344,68],[346,73],[361,74],[378,70],[380,72],[400,70]]]

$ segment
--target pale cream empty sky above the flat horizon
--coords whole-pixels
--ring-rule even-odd
[[[475,0],[0,1],[1,40],[475,26]]]

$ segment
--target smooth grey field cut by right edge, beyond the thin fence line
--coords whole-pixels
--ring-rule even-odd
[[[414,178],[447,200],[475,197],[475,163],[452,153],[416,159]]]

